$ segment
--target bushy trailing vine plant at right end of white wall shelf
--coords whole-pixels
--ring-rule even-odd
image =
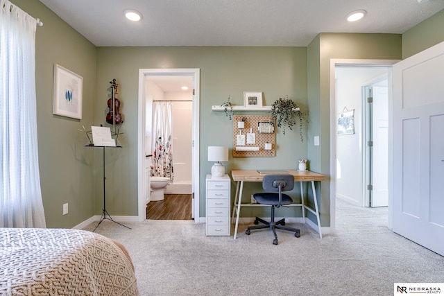
[[[282,128],[282,133],[285,134],[285,129],[293,130],[293,125],[299,123],[300,140],[304,141],[304,134],[302,132],[307,119],[305,113],[298,108],[298,104],[287,98],[279,98],[271,105],[271,115],[275,116],[276,125]],[[297,116],[297,117],[296,117]]]

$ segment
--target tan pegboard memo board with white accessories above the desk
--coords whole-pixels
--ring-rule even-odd
[[[244,128],[238,128],[238,122],[244,121]],[[233,157],[274,157],[275,156],[275,132],[259,132],[259,123],[271,123],[274,128],[274,116],[272,115],[233,115]],[[247,137],[250,133],[255,134],[253,137]],[[244,145],[242,141],[238,140],[238,135],[243,134],[240,140],[244,139]],[[252,142],[254,139],[254,143]],[[271,149],[265,149],[265,143],[271,143]],[[241,147],[247,149],[246,151],[239,151],[236,148]],[[257,149],[258,150],[248,150]]]

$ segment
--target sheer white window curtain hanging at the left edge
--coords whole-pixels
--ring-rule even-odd
[[[0,0],[0,227],[46,227],[35,98],[37,21]]]

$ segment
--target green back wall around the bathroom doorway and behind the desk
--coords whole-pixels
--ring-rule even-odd
[[[97,51],[97,106],[95,123],[104,123],[108,85],[116,78],[120,85],[120,112],[123,149],[110,159],[112,171],[108,209],[116,215],[137,215],[137,100],[139,69],[200,69],[200,216],[205,216],[205,175],[212,163],[207,161],[207,146],[232,147],[232,121],[223,112],[212,112],[228,96],[243,105],[244,91],[264,92],[264,105],[289,96],[307,110],[307,49],[300,47],[101,47]],[[254,114],[254,113],[249,113]],[[261,113],[259,113],[261,114]],[[264,113],[262,113],[264,114]],[[275,157],[231,157],[225,164],[235,168],[296,168],[297,159],[307,157],[307,145],[299,131],[276,134]],[[97,163],[97,166],[101,164]],[[99,183],[96,176],[96,184]],[[111,179],[111,178],[110,178]],[[108,177],[107,177],[108,180]],[[108,187],[109,188],[109,187]],[[246,186],[257,190],[257,186]],[[234,192],[234,189],[233,189]],[[125,198],[119,198],[124,196]],[[99,200],[98,200],[99,202]],[[108,205],[108,202],[107,202]],[[244,211],[244,210],[243,210]],[[246,212],[244,212],[246,214]]]

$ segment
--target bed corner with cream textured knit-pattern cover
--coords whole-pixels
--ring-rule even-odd
[[[126,249],[78,229],[0,228],[0,295],[139,295]]]

